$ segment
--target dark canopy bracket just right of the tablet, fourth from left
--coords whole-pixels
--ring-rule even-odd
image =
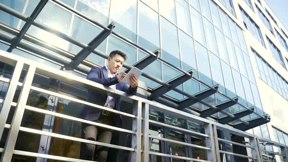
[[[190,75],[182,74],[179,77],[168,81],[168,85],[161,85],[160,87],[154,89],[151,92],[151,96],[149,97],[149,100],[156,99],[162,95],[164,95],[166,92],[170,91],[171,89],[177,87],[178,85],[184,83],[185,81],[188,81],[193,76],[193,70],[188,71]]]

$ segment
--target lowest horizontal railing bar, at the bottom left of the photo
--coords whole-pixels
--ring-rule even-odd
[[[3,151],[4,151],[4,148],[0,148],[0,152],[3,152]],[[14,150],[13,154],[29,156],[29,157],[36,157],[36,158],[60,160],[60,161],[64,161],[64,162],[92,162],[92,161],[86,161],[86,160],[81,160],[81,159],[66,158],[66,157],[61,157],[61,156],[40,154],[40,153],[34,153],[34,152],[28,152],[28,151],[20,151],[20,150]]]

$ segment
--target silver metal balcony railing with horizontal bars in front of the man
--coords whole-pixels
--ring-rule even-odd
[[[0,51],[0,61],[10,64],[12,66],[15,66],[11,79],[0,77],[0,82],[9,83],[9,87],[6,92],[5,98],[3,100],[0,100],[0,103],[2,104],[2,108],[0,112],[0,137],[3,138],[2,135],[3,135],[4,128],[9,129],[9,133],[8,133],[4,148],[0,148],[0,152],[2,152],[0,162],[10,162],[13,155],[22,155],[22,156],[28,156],[28,157],[36,157],[36,158],[52,159],[52,160],[59,160],[59,161],[68,161],[68,162],[87,162],[87,161],[76,159],[76,158],[48,155],[48,154],[42,154],[39,152],[36,153],[36,152],[15,150],[16,141],[19,137],[18,135],[20,131],[28,132],[31,134],[37,134],[41,136],[64,139],[64,140],[73,141],[73,142],[84,142],[84,143],[90,143],[90,144],[95,144],[95,145],[102,145],[102,146],[106,146],[110,148],[116,148],[116,149],[128,151],[131,153],[131,162],[148,162],[149,155],[166,157],[166,158],[170,158],[171,160],[181,159],[181,160],[187,160],[187,161],[193,161],[193,162],[221,162],[221,159],[222,159],[221,157],[223,157],[223,155],[229,155],[233,157],[252,159],[254,162],[262,162],[261,150],[259,147],[259,140],[265,141],[265,139],[259,139],[258,137],[254,135],[237,130],[230,126],[223,125],[214,121],[209,121],[207,119],[165,106],[158,102],[149,101],[141,97],[128,95],[122,91],[112,89],[109,87],[105,87],[102,84],[99,84],[93,81],[88,81],[86,79],[77,77],[75,75],[64,72],[62,70],[54,69],[52,67],[42,65],[40,63],[16,56],[11,53]],[[21,73],[23,70],[26,72],[26,74],[25,74],[24,81],[20,82],[19,80],[21,78]],[[121,97],[125,99],[125,101],[129,101],[130,103],[132,103],[133,113],[130,114],[130,113],[126,113],[123,111],[109,109],[109,108],[106,108],[106,107],[103,107],[94,103],[90,103],[87,101],[83,101],[80,99],[70,97],[68,95],[63,95],[59,92],[54,92],[49,89],[46,90],[46,89],[37,87],[33,84],[34,76],[36,74],[45,76],[47,78],[52,78],[58,81],[64,81],[65,83],[68,83],[74,86],[85,87],[87,89],[99,91],[109,96]],[[18,101],[14,102],[13,98],[16,94],[17,87],[21,87],[21,93],[20,93]],[[94,121],[87,121],[87,120],[83,120],[83,119],[73,117],[70,115],[61,114],[59,112],[44,110],[44,109],[37,108],[31,105],[27,105],[29,93],[32,90],[43,93],[43,94],[47,94],[50,96],[58,97],[60,99],[73,101],[73,102],[84,104],[84,105],[89,105],[97,109],[106,110],[111,113],[116,113],[116,114],[120,114],[128,118],[131,118],[132,129],[129,130],[129,129],[119,128],[116,126],[106,125],[106,124],[102,124],[102,123],[98,123]],[[11,124],[8,124],[6,121],[7,121],[9,111],[11,109],[14,109],[15,113],[14,113],[14,117],[13,117]],[[43,131],[43,130],[25,127],[21,125],[25,110],[29,110],[29,111],[40,113],[40,114],[50,115],[50,116],[58,117],[58,118],[65,119],[65,120],[78,121],[78,122],[87,123],[87,124],[91,124],[91,125],[95,125],[99,127],[105,127],[113,131],[131,134],[131,146],[122,146],[122,145],[115,145],[115,144],[107,144],[103,142],[95,142],[95,141],[85,140],[85,139],[78,138],[78,137],[62,135],[60,133],[53,133],[49,131]],[[200,133],[200,132],[185,129],[185,128],[180,128],[178,126],[170,125],[170,124],[159,122],[159,121],[150,120],[149,110],[155,110],[158,112],[169,114],[176,118],[201,123],[204,125],[204,133]],[[188,133],[189,135],[202,137],[203,139],[205,139],[205,145],[203,146],[203,145],[193,144],[191,142],[186,142],[186,141],[180,142],[177,140],[169,139],[167,137],[149,135],[150,124],[162,126],[162,127],[175,130],[178,132],[185,132],[185,133]],[[250,144],[249,145],[242,144],[242,143],[233,142],[231,139],[218,138],[217,131],[225,131],[233,135],[247,138],[249,139]],[[149,140],[151,139],[158,140],[161,142],[176,143],[185,147],[201,149],[206,153],[206,159],[201,160],[201,159],[192,158],[191,156],[188,156],[188,155],[178,156],[178,155],[172,155],[171,153],[169,154],[167,152],[152,151],[149,147],[150,145]],[[251,155],[242,155],[239,153],[234,153],[233,151],[220,149],[219,148],[219,145],[221,145],[220,142],[247,147],[251,149]],[[280,143],[276,143],[276,144],[281,148],[281,151],[282,151],[281,156],[284,157],[285,162],[288,162],[287,160],[288,158],[286,157],[286,155],[288,155],[287,146],[280,144]]]

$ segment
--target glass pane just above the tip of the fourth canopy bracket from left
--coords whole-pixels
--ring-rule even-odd
[[[179,30],[182,68],[185,71],[197,69],[193,39]]]

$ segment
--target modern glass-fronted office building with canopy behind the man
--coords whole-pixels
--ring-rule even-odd
[[[143,67],[138,96],[284,145],[288,145],[287,35],[264,0],[0,0],[0,50],[82,78],[92,66],[107,65],[111,51],[121,50],[128,57],[123,70]],[[95,40],[100,40],[97,46]],[[0,60],[2,78],[11,79],[13,71],[13,66]],[[33,85],[79,100],[86,97],[85,89],[41,75],[34,77]],[[8,86],[0,81],[0,100]],[[20,92],[17,87],[13,101]],[[27,105],[76,118],[83,106],[33,90]],[[128,103],[123,106],[131,111]],[[11,109],[6,123],[11,124],[13,115]],[[200,123],[155,110],[149,111],[149,119],[205,133]],[[81,138],[80,122],[34,111],[25,110],[21,125]],[[154,124],[149,125],[149,133],[205,146],[201,136]],[[4,129],[0,148],[7,134]],[[218,137],[226,136],[218,132]],[[17,140],[18,150],[79,158],[79,142],[25,132]],[[224,151],[237,150],[220,144]],[[281,152],[272,146],[262,149],[267,150],[262,152],[264,162],[271,161],[273,152]],[[207,160],[201,150],[160,140],[153,140],[150,151]],[[121,158],[128,155],[123,152]],[[172,161],[156,155],[149,158]],[[12,160],[53,161],[17,155]],[[226,160],[241,162],[227,155]],[[281,156],[276,160],[286,162]]]

